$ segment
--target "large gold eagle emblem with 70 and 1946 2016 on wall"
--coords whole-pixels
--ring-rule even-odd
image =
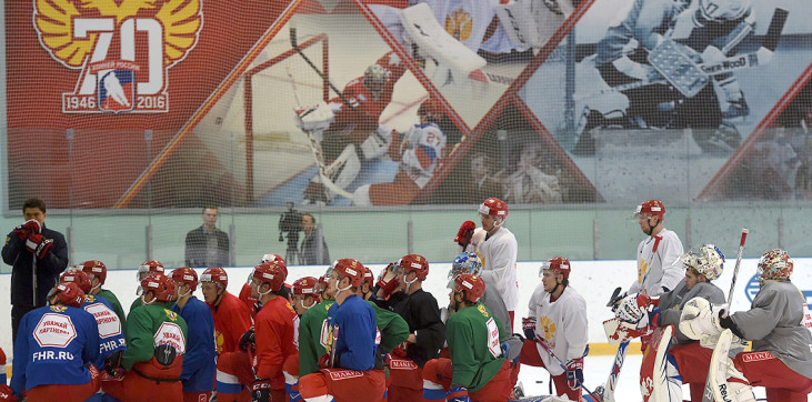
[[[169,69],[202,28],[202,0],[36,0],[40,44],[81,70],[63,113],[166,113]]]

